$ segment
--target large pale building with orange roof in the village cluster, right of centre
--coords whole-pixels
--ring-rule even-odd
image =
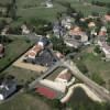
[[[64,42],[67,46],[78,48],[88,42],[88,35],[79,26],[75,26],[64,36]]]

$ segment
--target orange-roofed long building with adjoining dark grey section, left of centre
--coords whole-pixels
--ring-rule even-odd
[[[51,51],[51,42],[46,36],[42,36],[35,46],[30,50],[24,57],[25,63],[52,66],[56,62],[57,54],[53,55]],[[62,56],[58,56],[62,57]],[[57,58],[58,58],[57,57]]]

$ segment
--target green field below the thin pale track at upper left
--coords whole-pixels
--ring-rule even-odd
[[[31,18],[45,19],[48,21],[54,21],[56,19],[56,13],[65,11],[66,8],[57,3],[54,4],[53,9],[47,9],[43,7],[18,9],[18,15],[22,16],[23,20],[30,20]]]

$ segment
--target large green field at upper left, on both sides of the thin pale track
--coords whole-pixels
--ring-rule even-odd
[[[56,19],[56,13],[65,11],[66,8],[63,6],[59,6],[57,3],[54,3],[53,9],[47,9],[41,6],[42,1],[33,0],[34,2],[31,2],[31,0],[23,1],[23,3],[18,2],[18,15],[22,16],[21,19],[23,20],[30,20],[32,18],[37,18],[37,19],[46,19],[48,21],[53,21]],[[24,9],[23,6],[33,6],[32,8]],[[34,7],[36,4],[36,7]]]

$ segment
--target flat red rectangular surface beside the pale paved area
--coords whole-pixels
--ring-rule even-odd
[[[36,88],[36,92],[45,96],[48,99],[55,99],[56,98],[56,92],[47,87],[38,87]]]

